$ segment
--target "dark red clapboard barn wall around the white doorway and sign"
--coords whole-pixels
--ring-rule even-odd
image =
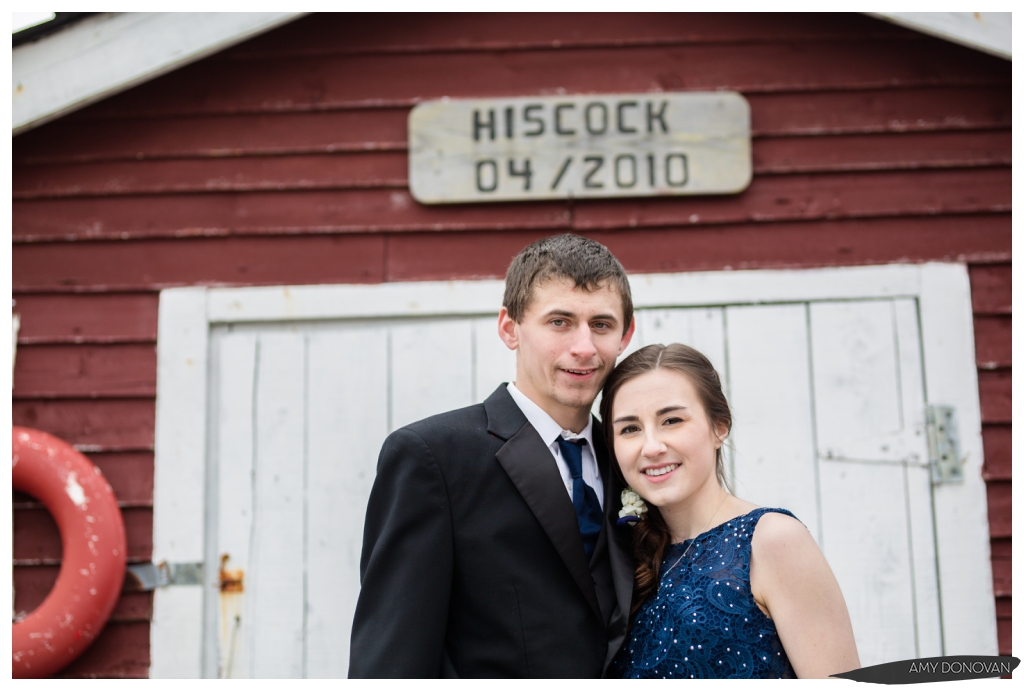
[[[425,207],[423,99],[736,90],[754,181],[730,197]],[[153,546],[158,292],[501,277],[538,237],[629,271],[969,266],[999,650],[1011,651],[1011,63],[851,14],[314,14],[13,140],[14,424],[85,450]],[[14,498],[15,610],[56,578]],[[62,673],[140,677],[147,594]]]

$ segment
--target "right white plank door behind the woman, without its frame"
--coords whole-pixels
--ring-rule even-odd
[[[645,342],[702,350],[733,408],[734,492],[800,518],[861,662],[942,654],[913,300],[642,311]]]

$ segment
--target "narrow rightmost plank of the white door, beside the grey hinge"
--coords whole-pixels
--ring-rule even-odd
[[[934,657],[942,654],[942,617],[939,609],[935,523],[932,520],[932,478],[928,467],[928,441],[925,436],[927,401],[916,301],[894,300],[893,317],[896,325],[903,424],[908,437],[906,502],[910,522],[912,549],[910,563],[913,565],[918,614],[918,654],[920,657]]]

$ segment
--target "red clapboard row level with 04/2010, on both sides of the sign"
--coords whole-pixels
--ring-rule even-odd
[[[93,159],[75,165],[40,163],[15,180],[14,199],[112,198],[211,190],[402,189],[409,180],[404,142],[400,146],[402,150],[394,152],[313,150],[211,161],[154,157],[134,161]],[[756,174],[1002,164],[1010,164],[1010,133],[1001,131],[855,134],[829,139],[765,136],[754,146]]]

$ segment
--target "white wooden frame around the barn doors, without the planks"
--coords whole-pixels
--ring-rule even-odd
[[[953,405],[964,481],[934,486],[946,654],[996,654],[988,514],[981,476],[981,406],[971,286],[963,264],[891,264],[800,270],[644,273],[630,276],[634,306],[914,298],[927,402]],[[207,372],[210,329],[238,322],[497,314],[504,280],[372,286],[173,288],[160,294],[153,561],[202,562],[206,534]],[[215,564],[207,564],[208,587]],[[203,670],[204,588],[154,596],[150,675],[198,678]],[[211,591],[215,592],[215,591]],[[214,604],[209,607],[215,615]]]

